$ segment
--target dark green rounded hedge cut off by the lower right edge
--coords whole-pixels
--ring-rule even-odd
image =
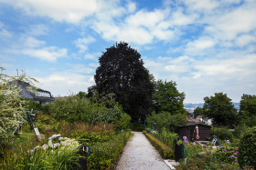
[[[256,169],[256,126],[242,135],[239,147],[240,167],[248,165]]]

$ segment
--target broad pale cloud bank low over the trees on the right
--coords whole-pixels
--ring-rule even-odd
[[[209,56],[203,60],[187,55],[145,58],[144,65],[155,79],[176,81],[178,90],[186,94],[186,102],[203,102],[205,96],[215,92],[227,93],[238,102],[243,93],[255,92],[256,55],[226,54],[226,57]]]

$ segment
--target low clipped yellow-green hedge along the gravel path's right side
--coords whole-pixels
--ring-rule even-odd
[[[174,158],[174,150],[170,146],[163,144],[153,135],[147,134],[145,131],[144,135],[149,140],[149,142],[154,145],[155,149],[159,152],[160,155],[162,155],[163,158]]]

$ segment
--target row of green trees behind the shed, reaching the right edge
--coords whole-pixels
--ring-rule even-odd
[[[232,104],[227,94],[215,93],[204,98],[203,107],[197,107],[193,115],[205,115],[214,119],[217,125],[234,127],[235,125],[256,125],[256,95],[243,94],[240,99],[240,109]]]

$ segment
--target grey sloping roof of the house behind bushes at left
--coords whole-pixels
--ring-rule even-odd
[[[38,101],[54,101],[55,98],[47,90],[33,87],[27,82],[16,81],[11,82],[10,85],[17,85],[22,89],[21,96]]]

